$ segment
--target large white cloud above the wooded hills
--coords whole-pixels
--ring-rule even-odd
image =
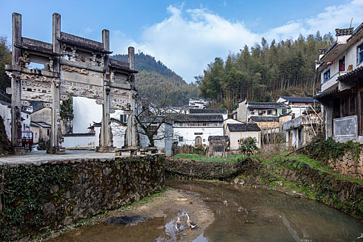
[[[229,51],[238,52],[245,44],[252,46],[261,37],[272,39],[296,38],[317,30],[334,32],[335,28],[348,28],[362,21],[363,0],[353,0],[342,6],[329,6],[317,16],[297,19],[266,31],[254,33],[243,21],[228,21],[206,8],[183,10],[169,6],[169,17],[153,24],[142,33],[142,42],[128,39],[120,31],[111,31],[111,49],[126,53],[127,46],[153,55],[166,66],[181,75],[187,82],[201,75],[215,57],[226,57]]]

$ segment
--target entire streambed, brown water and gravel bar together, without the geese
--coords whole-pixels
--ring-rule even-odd
[[[363,223],[317,201],[222,182],[166,182],[172,188],[162,196],[49,241],[357,241],[363,233]],[[178,211],[198,228],[178,234]]]

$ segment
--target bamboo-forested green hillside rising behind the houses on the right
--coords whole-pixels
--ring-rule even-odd
[[[313,96],[319,87],[315,73],[315,59],[319,48],[334,43],[331,34],[322,37],[319,32],[308,37],[268,44],[245,46],[239,53],[230,54],[225,61],[216,57],[207,66],[197,83],[201,97],[213,106],[236,104],[248,98],[251,101],[275,101],[279,95]]]

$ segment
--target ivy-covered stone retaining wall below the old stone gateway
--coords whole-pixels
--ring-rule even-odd
[[[0,240],[46,232],[160,190],[165,156],[1,165]]]

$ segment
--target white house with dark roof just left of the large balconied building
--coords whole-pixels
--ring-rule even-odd
[[[308,106],[316,106],[319,102],[313,97],[279,97],[277,102],[283,102],[291,106],[291,114],[294,118],[303,115]]]

